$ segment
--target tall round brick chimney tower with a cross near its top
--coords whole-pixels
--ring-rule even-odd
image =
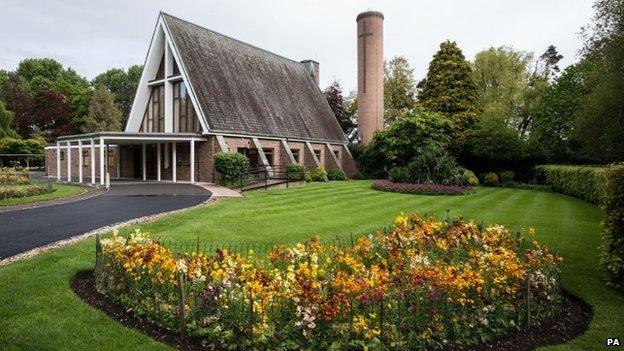
[[[366,11],[357,18],[358,135],[368,144],[383,129],[383,20],[381,12]]]

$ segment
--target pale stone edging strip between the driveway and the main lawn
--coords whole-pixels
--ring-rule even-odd
[[[153,215],[143,216],[143,217],[139,217],[139,218],[133,218],[133,219],[130,219],[130,220],[127,220],[127,221],[124,221],[124,222],[117,222],[117,223],[114,223],[114,224],[111,224],[111,225],[100,227],[100,228],[94,229],[94,230],[92,230],[90,232],[86,232],[84,234],[80,234],[80,235],[73,236],[71,238],[59,240],[59,241],[56,241],[56,242],[53,242],[53,243],[50,243],[50,244],[47,244],[47,245],[44,245],[44,246],[40,246],[40,247],[31,249],[31,250],[28,250],[26,252],[22,252],[20,254],[14,255],[14,256],[10,256],[10,257],[4,258],[4,259],[0,260],[0,267],[6,266],[6,265],[8,265],[10,263],[13,263],[13,262],[16,262],[16,261],[21,261],[21,260],[33,257],[33,256],[35,256],[35,255],[37,255],[39,253],[42,253],[42,252],[50,251],[52,249],[56,249],[56,248],[59,248],[59,247],[62,247],[62,246],[67,246],[67,245],[70,245],[70,244],[82,241],[84,239],[90,238],[90,237],[95,236],[97,234],[103,234],[103,233],[106,233],[106,232],[110,232],[110,231],[113,231],[113,230],[116,230],[116,229],[121,229],[123,227],[134,225],[134,224],[151,222],[151,221],[154,221],[156,219],[160,219],[162,217],[168,216],[170,214],[191,210],[191,209],[198,208],[198,207],[201,207],[201,206],[204,206],[204,205],[210,205],[210,204],[213,204],[215,202],[217,202],[217,200],[215,198],[213,198],[213,197],[210,197],[208,200],[206,200],[206,201],[204,201],[204,202],[202,202],[202,203],[200,203],[198,205],[195,205],[195,206],[180,208],[180,209],[173,210],[173,211],[168,211],[168,212],[160,212],[160,213],[156,213],[156,214],[153,214]]]

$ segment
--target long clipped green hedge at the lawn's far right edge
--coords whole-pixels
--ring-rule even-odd
[[[558,193],[600,204],[605,197],[606,168],[544,165],[535,167],[535,179]]]

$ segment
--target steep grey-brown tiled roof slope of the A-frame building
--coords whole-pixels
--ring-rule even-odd
[[[211,131],[345,142],[302,63],[168,14],[163,18]]]

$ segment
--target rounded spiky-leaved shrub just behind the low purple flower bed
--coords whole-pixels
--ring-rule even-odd
[[[465,178],[455,158],[440,146],[429,144],[407,166],[411,183],[463,185]]]

